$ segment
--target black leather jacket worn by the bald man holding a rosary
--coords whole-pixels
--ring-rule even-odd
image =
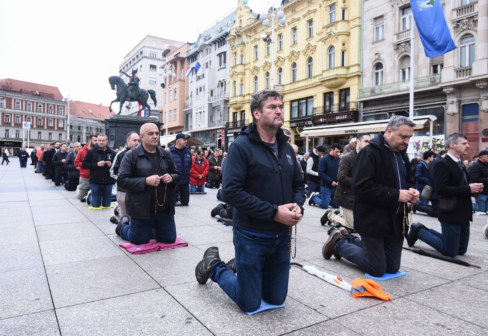
[[[123,156],[119,167],[117,184],[126,191],[125,208],[127,214],[130,217],[147,219],[150,217],[150,192],[154,192],[154,188],[146,185],[146,178],[158,174],[158,170],[151,167],[151,160],[144,154],[142,143],[137,146],[137,151],[137,162],[133,161],[130,150]],[[175,160],[171,152],[160,146],[156,147],[156,151],[158,153],[161,171],[163,172],[162,175],[169,174],[173,178],[173,182],[167,185],[167,196],[170,200],[170,215],[174,216],[175,195],[173,190],[180,184],[180,172],[176,168]],[[168,160],[164,157],[163,151],[166,151]]]

